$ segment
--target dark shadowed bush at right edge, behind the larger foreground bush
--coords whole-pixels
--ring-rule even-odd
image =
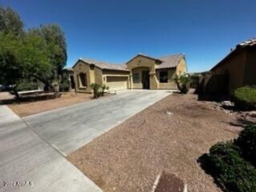
[[[256,166],[256,126],[245,127],[235,143],[241,149],[244,158]]]

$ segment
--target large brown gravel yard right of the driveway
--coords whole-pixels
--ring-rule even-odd
[[[166,111],[169,111],[166,113]],[[158,173],[175,173],[189,191],[221,191],[197,164],[241,127],[197,95],[172,94],[68,156],[103,191],[150,191]]]

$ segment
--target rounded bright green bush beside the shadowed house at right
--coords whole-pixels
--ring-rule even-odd
[[[234,91],[233,100],[239,110],[254,110],[256,109],[256,89],[249,86],[240,87]]]

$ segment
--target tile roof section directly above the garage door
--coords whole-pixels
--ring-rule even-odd
[[[89,64],[94,64],[95,66],[97,66],[101,69],[129,71],[129,69],[127,69],[125,65],[107,63],[107,62],[102,62],[102,61],[97,61],[94,59],[87,59],[87,58],[81,59],[81,60],[83,60],[84,62],[89,63]]]

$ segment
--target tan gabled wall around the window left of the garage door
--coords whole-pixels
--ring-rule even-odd
[[[75,65],[74,69],[74,82],[75,82],[75,91],[83,92],[83,93],[91,93],[90,84],[94,82],[94,71],[92,71],[89,67],[89,64],[84,63],[82,61],[78,61]],[[87,87],[81,87],[81,82],[79,81],[78,75],[79,73],[85,73],[87,78]]]

